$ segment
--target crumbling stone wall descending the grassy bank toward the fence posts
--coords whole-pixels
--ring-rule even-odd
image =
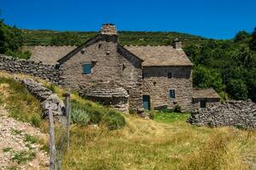
[[[43,118],[48,116],[49,109],[53,112],[53,115],[55,117],[65,115],[65,105],[63,101],[57,96],[57,94],[53,94],[51,90],[43,87],[43,84],[41,84],[40,82],[36,82],[31,78],[22,80],[18,78],[16,79],[19,82],[25,84],[28,91],[41,101]]]

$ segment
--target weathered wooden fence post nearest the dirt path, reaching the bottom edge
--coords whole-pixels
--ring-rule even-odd
[[[54,116],[53,112],[48,109],[48,126],[49,126],[49,148],[50,148],[50,170],[56,170],[55,164],[55,138],[54,138]]]

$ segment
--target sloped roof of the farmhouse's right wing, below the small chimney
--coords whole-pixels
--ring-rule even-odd
[[[181,49],[172,46],[124,46],[144,60],[143,66],[193,65]]]

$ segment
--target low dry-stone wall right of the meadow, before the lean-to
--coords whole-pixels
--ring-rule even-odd
[[[194,125],[236,126],[256,129],[256,104],[251,101],[213,103],[191,112],[188,122]]]

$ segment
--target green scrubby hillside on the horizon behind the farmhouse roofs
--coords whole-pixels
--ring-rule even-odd
[[[48,30],[22,30],[24,45],[80,45],[98,32],[93,31],[48,31]],[[119,31],[119,41],[123,45],[170,45],[175,38],[185,44],[202,42],[206,38],[192,36],[179,32],[150,32],[150,31]],[[63,41],[61,42],[63,38]],[[67,41],[65,38],[72,38]],[[54,41],[59,39],[60,42]]]

